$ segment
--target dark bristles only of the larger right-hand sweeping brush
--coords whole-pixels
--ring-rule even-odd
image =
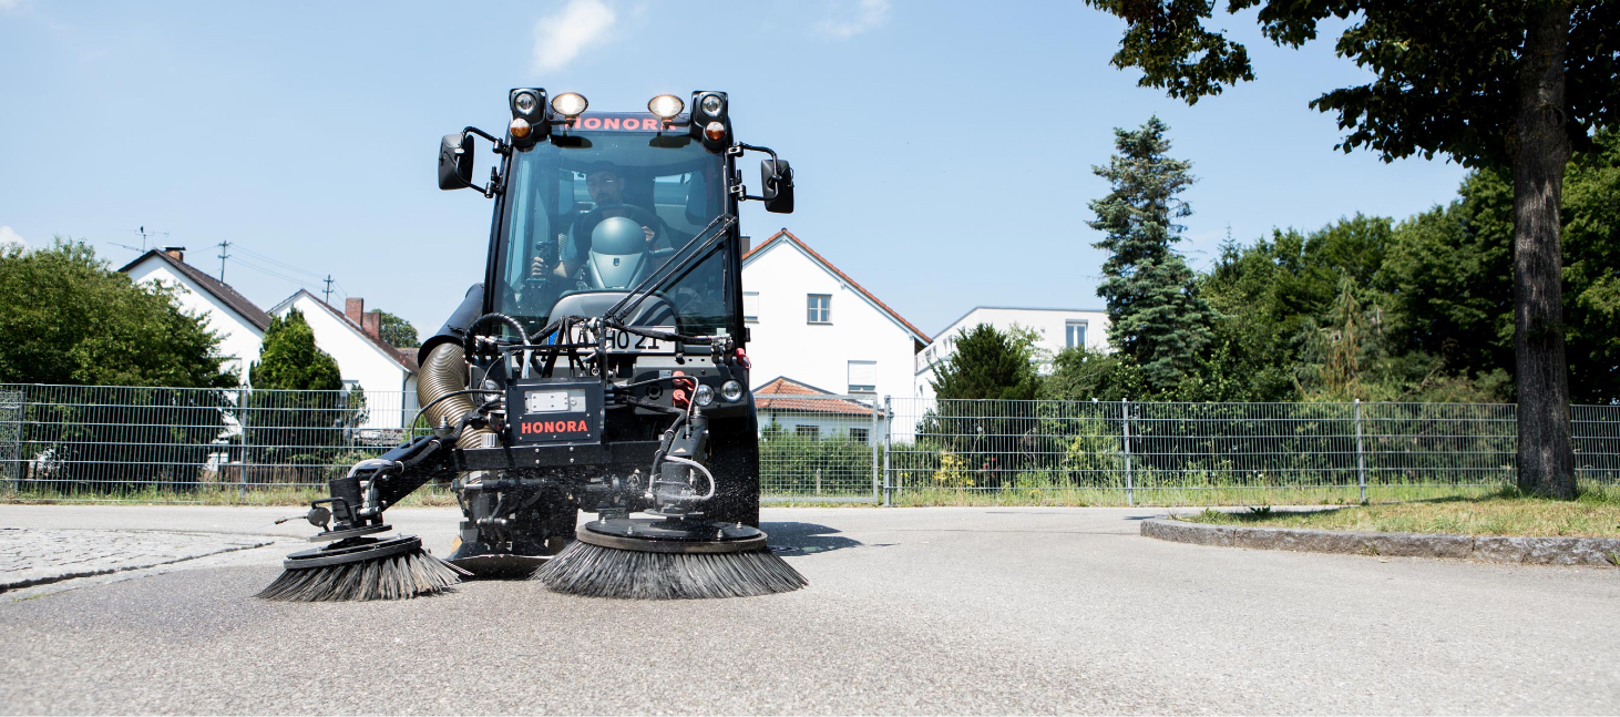
[[[633,600],[752,597],[810,584],[770,550],[658,554],[573,541],[530,579],[557,592]]]

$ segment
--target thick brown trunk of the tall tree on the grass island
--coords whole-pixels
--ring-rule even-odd
[[[1513,160],[1513,345],[1518,384],[1518,486],[1557,499],[1575,497],[1570,439],[1570,380],[1563,351],[1563,251],[1558,209],[1565,134],[1563,62],[1568,2],[1533,2],[1526,10],[1520,107]]]

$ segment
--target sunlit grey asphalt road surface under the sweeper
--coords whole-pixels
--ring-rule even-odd
[[[0,594],[0,712],[1620,712],[1620,570],[1158,542],[1155,510],[778,508],[810,588],[530,581],[249,596],[287,508],[0,507],[0,526],[284,536]],[[389,518],[444,555],[458,515]]]

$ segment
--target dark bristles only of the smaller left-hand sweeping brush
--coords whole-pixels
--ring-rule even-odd
[[[290,602],[400,600],[442,592],[471,575],[421,549],[347,565],[285,570],[254,597]]]

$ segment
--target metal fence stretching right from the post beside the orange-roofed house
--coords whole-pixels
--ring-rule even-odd
[[[891,503],[1345,503],[1515,482],[1511,405],[896,398]],[[1620,484],[1620,406],[1571,406],[1576,477]]]

